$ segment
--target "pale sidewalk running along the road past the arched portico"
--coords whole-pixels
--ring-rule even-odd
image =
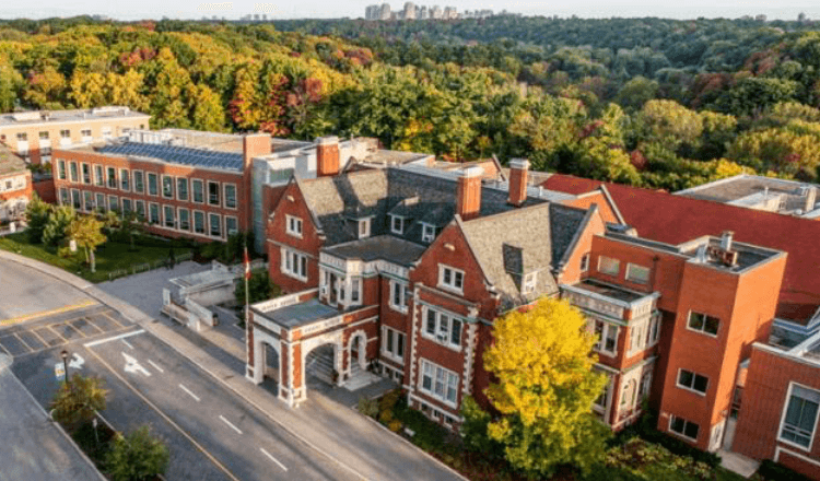
[[[122,316],[139,324],[257,407],[273,422],[362,479],[466,479],[407,441],[318,392],[308,397],[308,400],[300,408],[289,408],[272,392],[247,380],[244,376],[244,364],[231,353],[216,345],[203,345],[208,344],[204,341],[192,342],[179,333],[178,328],[166,326],[87,281],[58,268],[11,253],[0,251],[0,257],[74,285],[101,303],[118,310]],[[223,340],[223,342],[230,341]],[[226,349],[235,351],[235,347],[226,345]]]

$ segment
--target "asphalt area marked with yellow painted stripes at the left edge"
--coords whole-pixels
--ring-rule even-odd
[[[72,341],[118,332],[131,326],[108,307],[79,307],[0,327],[0,352],[20,357]]]

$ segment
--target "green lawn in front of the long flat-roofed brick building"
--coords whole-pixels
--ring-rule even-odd
[[[147,262],[154,265],[167,259],[171,247],[137,246],[136,250],[130,250],[128,244],[105,243],[97,247],[96,272],[94,273],[91,273],[90,267],[85,263],[85,254],[82,249],[78,249],[69,258],[62,258],[57,255],[56,250],[46,248],[42,244],[28,244],[24,232],[0,237],[0,249],[50,263],[91,282],[104,282],[108,280],[109,272],[130,270],[134,265]],[[174,255],[177,257],[188,253],[190,253],[190,249],[174,248]]]

